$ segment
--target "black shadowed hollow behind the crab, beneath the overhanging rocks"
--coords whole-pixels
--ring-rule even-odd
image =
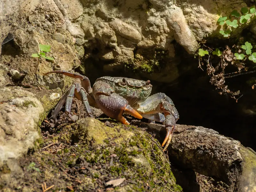
[[[129,78],[140,76],[140,73],[124,69],[103,72],[103,66],[98,61],[91,59],[90,62],[87,61],[82,61],[82,63],[85,65],[85,75],[91,80],[92,84],[101,76],[125,76]],[[184,55],[181,63],[182,65],[188,65],[189,63],[193,66],[193,69],[169,84],[149,79],[154,87],[151,94],[164,92],[173,100],[180,115],[177,124],[213,129],[221,135],[239,140],[245,147],[256,150],[254,142],[256,130],[253,128],[256,123],[254,107],[256,103],[252,100],[254,90],[251,86],[245,84],[246,80],[252,78],[255,74],[246,74],[228,79],[226,85],[230,86],[230,89],[241,88],[240,95],[243,96],[236,102],[230,96],[220,95],[215,90],[215,86],[209,82],[210,77],[206,74],[206,71],[198,68],[198,59]],[[76,71],[81,72],[79,69]],[[141,76],[140,79],[148,80]]]

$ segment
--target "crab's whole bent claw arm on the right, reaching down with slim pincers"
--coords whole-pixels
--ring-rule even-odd
[[[172,100],[164,93],[156,93],[148,97],[148,99],[146,99],[144,102],[140,103],[139,107],[136,108],[136,110],[142,116],[153,115],[156,113],[164,113],[164,124],[167,133],[162,144],[162,147],[166,144],[163,151],[166,150],[166,148],[169,146],[172,140],[172,134],[175,129],[176,121],[179,119],[178,111],[174,107]]]

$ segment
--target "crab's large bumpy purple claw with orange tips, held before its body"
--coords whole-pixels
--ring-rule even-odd
[[[129,124],[122,116],[124,113],[142,119],[142,116],[128,105],[128,101],[116,94],[109,84],[97,81],[92,89],[98,107],[110,118],[116,119],[123,124]]]

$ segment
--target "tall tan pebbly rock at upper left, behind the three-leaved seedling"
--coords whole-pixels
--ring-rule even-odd
[[[39,11],[41,9],[44,12]],[[24,0],[20,5],[19,15],[20,20],[14,22],[10,30],[14,45],[7,43],[0,62],[10,63],[10,68],[26,72],[23,83],[30,83],[34,77],[37,58],[31,57],[31,54],[40,51],[39,44],[51,46],[51,52],[47,52],[46,56],[53,57],[54,61],[52,63],[40,59],[34,81],[37,85],[47,83],[43,74],[52,71],[56,65],[60,66],[60,70],[71,70],[79,66],[80,60],[77,58],[73,36],[66,30],[65,18],[54,1]]]

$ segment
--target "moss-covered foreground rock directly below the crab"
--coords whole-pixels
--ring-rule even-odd
[[[24,174],[12,173],[9,184],[0,186],[39,191],[46,182],[55,191],[182,191],[160,143],[137,127],[83,118],[44,140],[52,142],[20,159]],[[105,184],[120,178],[125,180],[116,187]]]

